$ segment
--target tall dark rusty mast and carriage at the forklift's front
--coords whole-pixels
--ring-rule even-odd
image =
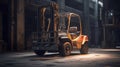
[[[36,38],[33,41],[40,45],[42,50],[54,49],[55,44],[59,43],[58,37],[58,5],[54,2],[39,6],[40,22],[37,27],[38,31],[34,34]],[[44,48],[43,48],[44,47]],[[51,48],[51,49],[50,49]],[[58,49],[55,49],[58,50]]]

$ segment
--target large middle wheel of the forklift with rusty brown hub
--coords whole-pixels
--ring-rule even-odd
[[[61,56],[68,56],[71,54],[71,44],[69,42],[64,42],[61,44],[59,53]]]

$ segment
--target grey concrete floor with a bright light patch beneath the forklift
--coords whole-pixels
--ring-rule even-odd
[[[39,57],[34,52],[0,54],[0,67],[120,67],[120,49],[89,49],[81,55],[73,51],[71,56],[46,53]]]

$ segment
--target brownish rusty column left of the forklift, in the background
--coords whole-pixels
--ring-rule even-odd
[[[24,0],[18,0],[17,7],[17,50],[24,50]]]

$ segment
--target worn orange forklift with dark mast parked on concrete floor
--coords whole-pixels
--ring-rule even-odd
[[[40,22],[33,32],[32,49],[35,54],[44,56],[45,52],[59,52],[68,56],[72,50],[88,53],[88,36],[82,34],[81,18],[76,13],[59,13],[58,4],[49,2],[39,8]]]

